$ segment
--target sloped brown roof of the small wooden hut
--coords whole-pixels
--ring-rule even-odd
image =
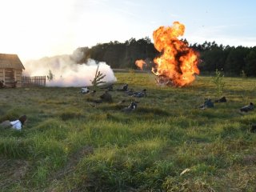
[[[17,54],[0,54],[0,68],[23,69],[21,60]]]

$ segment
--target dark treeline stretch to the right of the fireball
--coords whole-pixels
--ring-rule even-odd
[[[202,73],[223,71],[228,76],[256,76],[256,46],[222,46],[215,42],[190,45],[200,54]]]

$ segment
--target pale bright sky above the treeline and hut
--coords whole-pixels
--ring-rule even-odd
[[[152,39],[159,26],[186,26],[188,42],[256,46],[253,0],[2,0],[0,53],[28,59],[81,46]]]

